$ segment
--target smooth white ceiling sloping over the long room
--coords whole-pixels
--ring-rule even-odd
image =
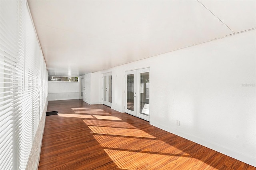
[[[28,0],[49,75],[84,75],[256,28],[256,1]]]

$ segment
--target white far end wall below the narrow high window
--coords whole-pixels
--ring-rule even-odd
[[[69,100],[79,99],[80,95],[79,82],[48,82],[48,99],[53,100]]]

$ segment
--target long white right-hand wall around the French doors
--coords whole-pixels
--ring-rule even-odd
[[[150,67],[151,125],[256,166],[255,38],[251,30],[93,73],[93,102],[111,71],[112,109],[124,112],[125,71]]]

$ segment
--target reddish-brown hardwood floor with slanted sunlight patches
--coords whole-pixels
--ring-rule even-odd
[[[126,113],[49,101],[39,170],[256,170]]]

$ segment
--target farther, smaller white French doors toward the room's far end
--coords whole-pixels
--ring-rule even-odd
[[[103,104],[111,107],[112,104],[112,75],[103,74]]]

